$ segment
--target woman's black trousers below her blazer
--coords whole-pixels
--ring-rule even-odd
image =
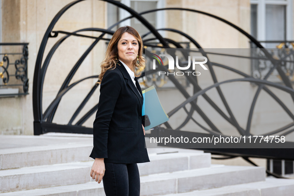
[[[102,179],[106,196],[140,196],[137,164],[107,163]]]

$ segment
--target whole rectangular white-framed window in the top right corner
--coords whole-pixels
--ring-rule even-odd
[[[294,39],[293,1],[251,0],[251,35],[264,47]]]

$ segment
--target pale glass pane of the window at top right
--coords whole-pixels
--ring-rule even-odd
[[[266,5],[266,40],[285,40],[286,6]],[[276,48],[278,43],[267,43],[267,48]]]

